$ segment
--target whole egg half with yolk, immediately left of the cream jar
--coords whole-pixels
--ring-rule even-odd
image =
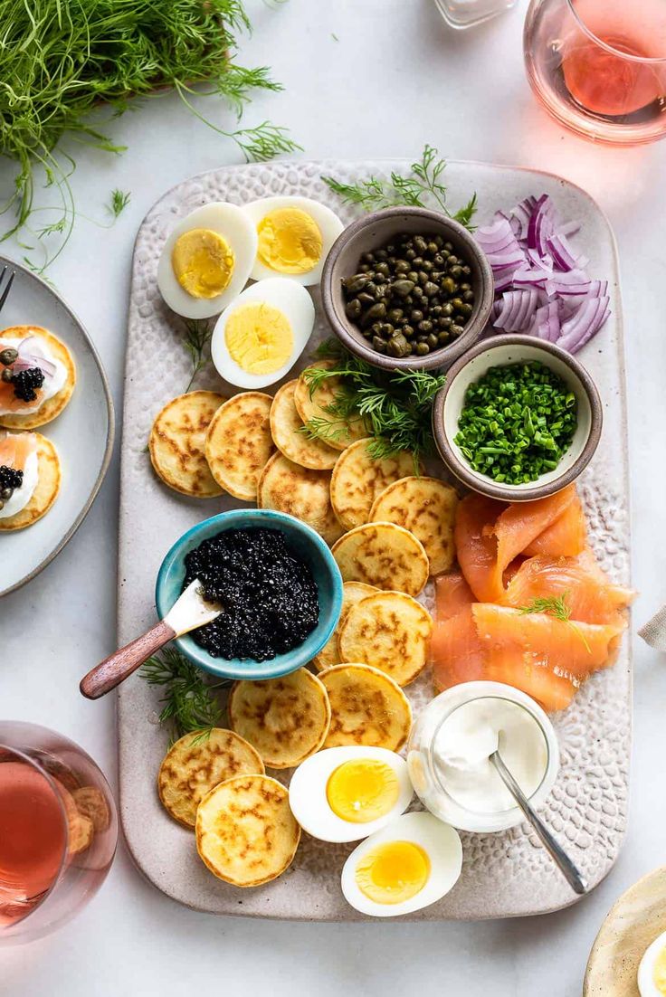
[[[407,763],[386,748],[327,748],[306,759],[289,785],[289,806],[304,831],[322,841],[356,841],[410,805]]]

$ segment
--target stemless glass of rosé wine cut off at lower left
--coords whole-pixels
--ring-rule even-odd
[[[73,917],[117,842],[114,799],[90,756],[45,727],[0,721],[0,947]]]

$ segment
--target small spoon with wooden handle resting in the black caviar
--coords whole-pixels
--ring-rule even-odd
[[[218,603],[205,601],[201,582],[194,578],[173,603],[164,620],[160,620],[141,637],[121,647],[91,669],[79,685],[82,694],[87,699],[105,696],[136,672],[147,658],[164,647],[169,640],[209,623],[221,611],[222,607]]]

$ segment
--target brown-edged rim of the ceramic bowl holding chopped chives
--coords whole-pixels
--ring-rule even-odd
[[[444,418],[445,406],[447,396],[451,391],[454,381],[466,369],[472,360],[475,360],[477,357],[482,356],[482,354],[488,353],[491,350],[495,350],[501,346],[528,346],[536,352],[542,352],[544,354],[543,363],[545,366],[548,366],[548,357],[556,357],[568,367],[573,378],[580,384],[580,387],[582,388],[583,393],[587,396],[589,403],[589,433],[587,434],[587,439],[585,440],[578,457],[568,468],[564,469],[560,475],[557,475],[551,481],[539,485],[537,479],[531,488],[519,488],[515,485],[501,485],[498,482],[494,482],[492,478],[484,478],[483,476],[475,473],[465,463],[465,461],[458,456],[457,451],[450,442],[449,434],[446,429]],[[517,360],[513,360],[512,362],[515,363]],[[594,456],[599,440],[601,439],[602,426],[603,407],[598,389],[580,361],[573,357],[570,353],[567,353],[567,351],[563,350],[560,346],[557,346],[555,343],[548,343],[544,340],[536,339],[533,336],[524,336],[518,333],[501,335],[490,340],[485,339],[468,350],[468,352],[457,360],[448,371],[447,383],[437,393],[433,404],[433,434],[435,436],[437,449],[440,452],[440,456],[442,457],[444,463],[447,465],[452,474],[454,474],[464,485],[467,485],[467,487],[473,492],[478,492],[481,495],[489,496],[490,498],[498,498],[500,501],[529,501],[534,498],[546,498],[547,496],[555,495],[557,492],[561,492],[567,485],[575,482]]]

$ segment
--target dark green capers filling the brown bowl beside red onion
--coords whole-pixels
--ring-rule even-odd
[[[345,314],[378,353],[426,356],[462,335],[475,304],[472,268],[439,233],[394,236],[342,281]]]

